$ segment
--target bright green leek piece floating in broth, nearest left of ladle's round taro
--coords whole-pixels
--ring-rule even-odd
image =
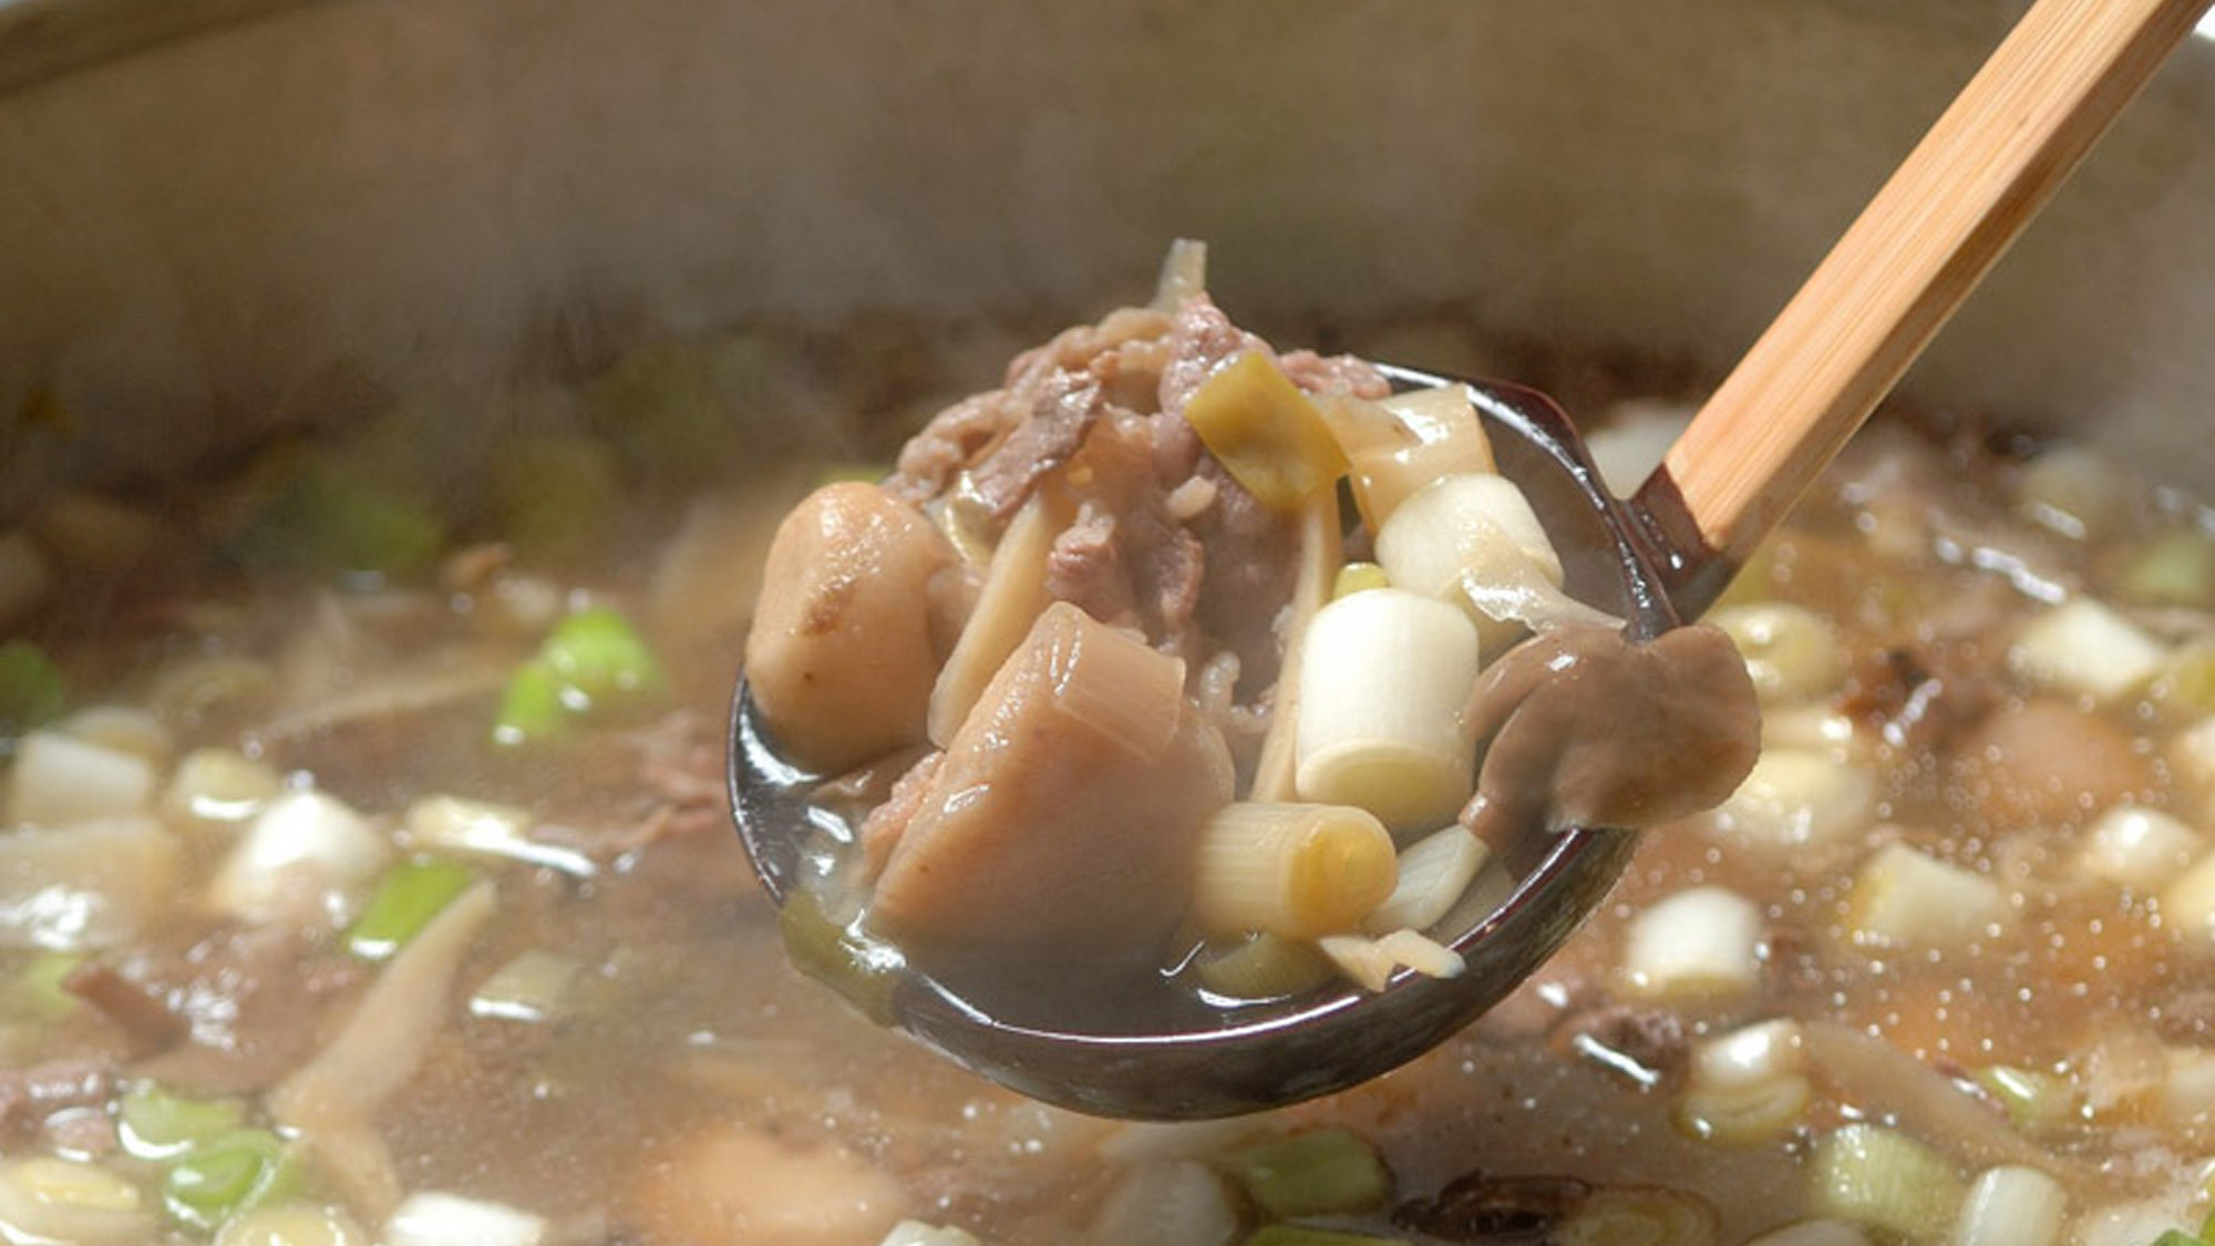
[[[580,716],[669,692],[660,658],[622,614],[578,610],[554,625],[538,654],[501,694],[492,738],[521,745],[565,734]]]

